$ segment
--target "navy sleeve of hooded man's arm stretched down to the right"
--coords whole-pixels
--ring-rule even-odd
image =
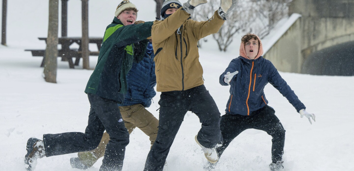
[[[269,78],[268,82],[277,89],[292,106],[299,112],[301,109],[306,109],[305,105],[299,100],[295,95],[294,91],[291,90],[290,86],[287,85],[286,81],[281,78],[278,70],[274,67],[272,63],[269,66]]]

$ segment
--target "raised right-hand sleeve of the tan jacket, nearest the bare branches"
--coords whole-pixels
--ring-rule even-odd
[[[200,40],[208,35],[215,34],[223,24],[224,20],[215,11],[214,15],[208,21],[192,21],[194,36],[197,40]]]

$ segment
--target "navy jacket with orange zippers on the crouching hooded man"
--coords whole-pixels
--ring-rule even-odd
[[[253,111],[267,105],[268,101],[263,89],[268,82],[286,97],[297,112],[306,109],[290,86],[281,78],[272,62],[262,56],[257,59],[246,59],[241,56],[233,59],[225,72],[220,75],[220,84],[227,86],[224,75],[235,71],[239,73],[230,82],[230,97],[226,105],[226,113],[250,115]]]

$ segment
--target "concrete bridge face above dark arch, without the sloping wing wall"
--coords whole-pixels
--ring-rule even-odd
[[[289,13],[302,15],[304,59],[332,45],[354,41],[353,9],[353,0],[293,0]]]

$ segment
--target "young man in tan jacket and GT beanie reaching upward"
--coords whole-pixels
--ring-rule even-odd
[[[204,86],[199,62],[198,40],[217,33],[237,0],[221,0],[221,7],[208,21],[190,19],[194,7],[207,0],[166,0],[161,20],[152,27],[159,101],[159,132],[150,150],[144,171],[162,171],[167,154],[187,111],[195,113],[202,123],[196,142],[211,163],[218,161],[215,146],[222,143],[220,112]]]

